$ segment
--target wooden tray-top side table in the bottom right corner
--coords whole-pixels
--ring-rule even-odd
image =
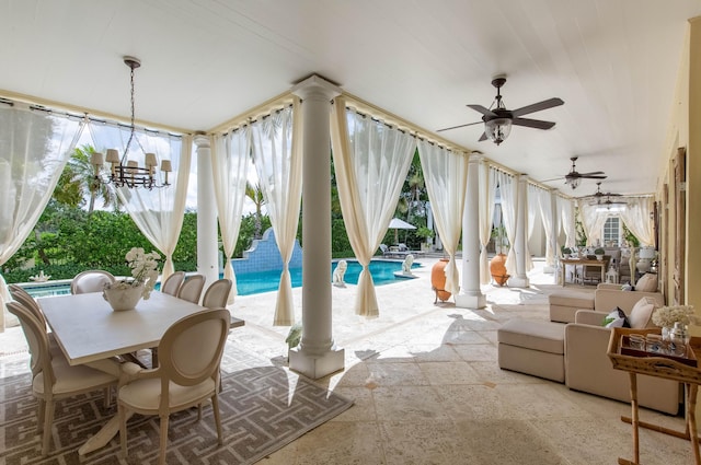
[[[613,328],[611,332],[608,356],[616,370],[628,371],[631,382],[631,418],[621,417],[621,420],[630,422],[633,427],[633,461],[619,457],[618,463],[640,464],[639,428],[642,427],[691,441],[696,465],[701,465],[696,419],[697,394],[699,384],[701,384],[701,370],[697,367],[698,360],[701,359],[701,338],[692,337],[685,357],[676,357],[646,352],[644,348],[642,350],[631,348],[629,344],[631,334],[660,334],[660,329]],[[640,421],[637,410],[639,373],[683,383],[687,395],[686,430],[683,432]]]

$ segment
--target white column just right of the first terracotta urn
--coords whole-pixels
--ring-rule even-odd
[[[479,155],[470,155],[462,213],[462,283],[456,306],[463,309],[486,306],[486,297],[480,289],[480,160]]]

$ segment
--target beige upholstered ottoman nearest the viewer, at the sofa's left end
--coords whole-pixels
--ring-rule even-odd
[[[496,332],[499,368],[564,383],[565,325],[509,319]]]

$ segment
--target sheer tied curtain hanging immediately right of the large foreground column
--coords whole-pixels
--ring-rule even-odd
[[[355,312],[377,317],[379,307],[368,265],[397,208],[416,141],[383,121],[346,109],[345,98],[336,97],[331,142],[343,220],[353,252],[363,266]],[[437,206],[432,207],[435,210]]]

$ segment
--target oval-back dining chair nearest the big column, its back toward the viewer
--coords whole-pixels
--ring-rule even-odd
[[[158,368],[143,370],[134,363],[123,365],[125,375],[130,379],[117,393],[124,458],[127,456],[127,411],[159,416],[159,464],[163,465],[170,414],[197,406],[197,420],[200,420],[202,404],[207,399],[211,399],[218,444],[222,444],[217,392],[219,364],[230,321],[227,309],[212,309],[185,316],[175,322],[161,338]],[[193,350],[193,347],[197,350]]]

